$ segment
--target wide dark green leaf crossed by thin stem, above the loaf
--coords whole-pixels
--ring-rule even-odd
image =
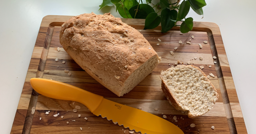
[[[133,6],[132,8],[129,9],[129,13],[131,14],[132,18],[135,16],[135,12],[137,10],[138,5]],[[139,4],[138,12],[136,14],[136,19],[146,19],[147,16],[155,12],[155,10],[152,8],[152,6],[148,4]]]

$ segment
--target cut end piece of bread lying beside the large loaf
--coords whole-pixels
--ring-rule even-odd
[[[211,81],[193,65],[171,67],[161,71],[160,78],[168,102],[177,110],[188,111],[189,118],[207,113],[219,98]]]

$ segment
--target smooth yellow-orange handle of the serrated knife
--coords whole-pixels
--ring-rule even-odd
[[[30,84],[35,91],[44,96],[82,103],[91,112],[94,112],[103,100],[103,96],[55,80],[32,78]]]

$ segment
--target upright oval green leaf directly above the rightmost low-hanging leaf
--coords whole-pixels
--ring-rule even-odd
[[[189,4],[189,2],[184,0],[184,1],[181,3],[181,6],[180,6],[180,8],[179,8],[177,21],[180,21],[180,20],[184,19],[184,18],[187,16],[187,14],[188,14],[189,9],[190,9],[190,4]]]

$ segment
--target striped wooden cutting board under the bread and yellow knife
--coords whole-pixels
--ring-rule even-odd
[[[64,51],[59,43],[59,30],[61,24],[72,16],[48,15],[42,19],[36,44],[32,54],[28,73],[21,94],[19,106],[14,118],[11,133],[24,134],[70,134],[70,133],[108,133],[121,134],[129,129],[114,124],[106,118],[93,115],[84,105],[66,100],[57,100],[45,97],[35,92],[30,85],[30,78],[38,77],[53,79],[68,83],[92,93],[102,95],[104,98],[121,103],[133,108],[141,107],[143,111],[162,117],[167,116],[168,121],[180,127],[185,134],[247,134],[244,118],[237,98],[232,74],[229,68],[222,37],[217,24],[209,22],[194,22],[193,31],[180,34],[179,27],[174,27],[167,33],[161,33],[161,26],[154,30],[143,30],[143,19],[124,19],[122,21],[135,29],[141,30],[141,34],[149,41],[154,50],[162,57],[157,68],[140,82],[132,91],[122,97],[118,97],[99,82],[93,79]],[[194,39],[191,38],[194,36]],[[159,42],[157,39],[160,39]],[[191,45],[186,44],[191,39]],[[179,44],[179,40],[182,44]],[[203,43],[207,41],[208,43]],[[159,46],[156,44],[160,43]],[[202,49],[198,44],[202,45]],[[57,48],[60,47],[60,51]],[[178,47],[177,50],[174,50]],[[170,51],[174,55],[170,55]],[[217,60],[213,59],[217,57]],[[197,59],[194,59],[197,57]],[[202,57],[203,60],[200,60]],[[55,59],[59,61],[56,62]],[[61,59],[62,58],[62,59]],[[220,95],[214,108],[205,115],[190,119],[182,111],[175,110],[166,100],[161,90],[161,70],[166,70],[174,65],[177,60],[185,65],[191,62],[194,66],[204,66],[202,71],[210,77],[211,82],[217,88]],[[65,61],[65,64],[62,62]],[[217,64],[214,64],[214,61]],[[206,65],[207,64],[207,65]],[[211,68],[209,66],[212,66]],[[68,69],[71,76],[64,72]],[[80,106],[77,113],[72,110]],[[35,113],[31,110],[35,107]],[[158,108],[158,111],[154,109]],[[50,111],[49,115],[45,112]],[[58,117],[54,114],[59,113]],[[81,115],[81,118],[78,117]],[[63,116],[63,118],[61,118]],[[173,117],[177,117],[177,121]],[[88,120],[84,118],[87,117]],[[40,120],[41,118],[41,120]],[[75,120],[72,121],[72,120]],[[67,121],[69,124],[67,124]],[[190,124],[195,127],[191,128]],[[211,127],[214,126],[215,129]],[[83,131],[80,130],[83,128]],[[123,130],[122,130],[123,129]]]

